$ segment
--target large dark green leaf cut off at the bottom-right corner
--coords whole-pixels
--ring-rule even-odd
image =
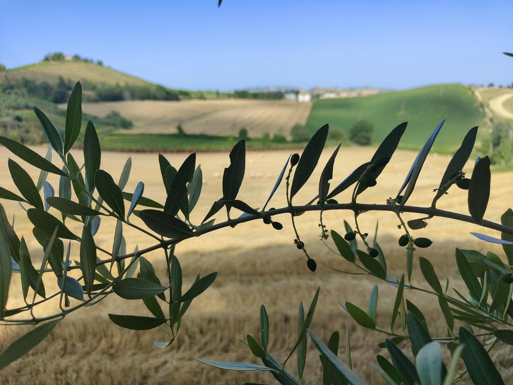
[[[461,357],[473,383],[479,385],[505,385],[499,371],[481,343],[465,328],[460,327]]]

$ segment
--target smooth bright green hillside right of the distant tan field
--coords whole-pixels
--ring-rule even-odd
[[[313,132],[329,123],[330,128],[343,130],[349,137],[351,126],[365,119],[374,125],[373,142],[377,144],[393,127],[408,121],[401,146],[420,148],[437,124],[447,119],[433,145],[436,151],[445,152],[457,148],[464,134],[480,125],[483,118],[479,103],[467,87],[444,84],[365,98],[319,100],[313,104],[306,125]]]

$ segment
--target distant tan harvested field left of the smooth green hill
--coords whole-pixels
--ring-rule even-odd
[[[260,138],[264,132],[289,137],[294,124],[306,123],[311,103],[245,99],[145,100],[84,103],[82,109],[99,117],[111,111],[119,112],[134,124],[132,129],[123,131],[126,133],[175,133],[176,126],[181,124],[186,133],[209,135],[236,136],[245,127],[251,137]]]

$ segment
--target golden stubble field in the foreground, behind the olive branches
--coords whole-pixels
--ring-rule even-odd
[[[43,147],[35,150],[44,155]],[[317,192],[318,178],[322,165],[327,161],[332,149],[325,150],[320,165],[311,180],[297,197],[295,203],[307,202]],[[332,184],[342,180],[352,169],[370,159],[373,149],[349,147],[343,148],[336,161]],[[77,160],[83,157],[80,151],[74,151]],[[254,207],[262,206],[274,185],[289,152],[248,152],[246,162],[246,180],[243,182],[239,198]],[[128,153],[105,152],[102,156],[102,168],[109,171],[114,179],[119,178]],[[171,164],[178,166],[186,154],[166,155]],[[378,180],[378,185],[367,190],[362,202],[382,203],[389,196],[397,194],[416,153],[397,151],[391,163]],[[6,166],[12,155],[0,148],[0,185],[16,191]],[[80,162],[79,160],[79,162]],[[165,191],[159,172],[157,154],[134,154],[130,180],[125,190],[132,191],[137,182],[145,183],[145,196],[164,202]],[[416,190],[409,203],[427,206],[433,192],[449,161],[447,156],[429,155]],[[20,161],[24,164],[23,161]],[[227,153],[199,153],[204,175],[203,194],[193,211],[192,221],[200,222],[210,208],[211,203],[221,197],[221,178],[223,168],[228,166]],[[26,164],[24,164],[26,165]],[[36,179],[38,172],[29,165],[26,169]],[[466,171],[471,171],[471,163]],[[511,173],[492,175],[490,204],[486,219],[499,221],[500,215],[509,207],[513,198]],[[57,178],[50,176],[49,181],[57,188]],[[339,197],[339,202],[349,201],[349,191]],[[3,201],[8,215],[16,215],[15,229],[18,235],[27,238],[34,262],[41,258],[40,247],[31,235],[32,226],[23,210],[16,202]],[[271,206],[285,204],[284,185],[282,185]],[[466,195],[463,190],[452,188],[450,194],[439,202],[440,208],[467,213]],[[216,217],[224,220],[224,213]],[[415,216],[405,215],[406,219]],[[135,220],[136,218],[134,218]],[[354,224],[352,213],[348,211],[328,211],[324,223],[328,228],[344,233],[343,219]],[[376,220],[379,219],[379,242],[387,258],[388,274],[399,278],[405,270],[405,249],[397,245],[397,239],[403,234],[397,228],[397,218],[390,213],[364,214],[360,218],[362,230],[373,234]],[[296,334],[296,317],[299,301],[308,307],[317,286],[321,286],[317,312],[311,329],[327,341],[330,333],[338,330],[345,333],[346,323],[351,332],[352,362],[354,370],[370,384],[383,383],[378,372],[372,368],[376,354],[388,357],[385,350],[377,347],[384,340],[378,332],[363,330],[352,321],[338,301],[349,300],[367,309],[368,296],[374,284],[379,286],[377,323],[384,329],[389,328],[392,301],[395,288],[374,279],[361,276],[342,275],[321,265],[325,262],[337,268],[351,269],[342,257],[328,251],[319,241],[318,213],[306,213],[298,219],[298,229],[305,240],[311,255],[318,261],[318,270],[311,273],[306,267],[302,253],[292,243],[294,235],[289,217],[276,217],[283,223],[281,231],[266,226],[261,221],[253,221],[235,228],[225,228],[207,234],[199,239],[190,239],[176,249],[184,273],[184,286],[192,283],[196,274],[202,276],[218,271],[218,279],[200,297],[194,299],[184,317],[179,338],[167,349],[157,349],[153,341],[164,341],[166,334],[161,329],[136,332],[114,325],[107,313],[150,315],[142,301],[122,300],[111,295],[101,303],[70,314],[60,322],[53,333],[27,356],[15,361],[0,372],[0,383],[6,384],[233,384],[247,381],[275,383],[271,375],[260,372],[228,372],[207,367],[195,361],[195,357],[226,360],[249,361],[258,363],[249,351],[238,341],[246,334],[258,335],[259,307],[264,303],[270,318],[269,350],[282,361],[292,348]],[[67,222],[68,226],[80,234],[81,228],[76,222]],[[141,223],[139,220],[136,223]],[[127,249],[136,244],[145,247],[152,244],[151,239],[131,228],[125,228]],[[494,251],[504,258],[497,245],[485,244],[470,236],[476,226],[453,222],[445,219],[433,219],[424,230],[418,230],[417,236],[426,236],[435,241],[428,249],[419,250],[414,262],[412,283],[427,287],[418,269],[418,257],[430,259],[441,281],[450,279],[450,286],[464,290],[462,282],[456,279],[457,267],[453,257],[455,247],[476,248],[484,252]],[[96,243],[104,248],[112,247],[114,222],[105,220],[95,237]],[[496,235],[493,232],[483,231]],[[331,240],[328,240],[331,244]],[[157,275],[165,277],[165,262],[159,253],[147,256],[154,264]],[[78,259],[78,247],[73,245],[72,259]],[[105,259],[106,256],[101,256]],[[76,271],[75,271],[76,272]],[[55,278],[46,275],[47,292],[56,289]],[[12,280],[11,299],[8,307],[23,303],[19,277]],[[432,334],[443,336],[445,323],[438,307],[438,301],[431,296],[405,292],[406,298],[415,303],[428,319]],[[74,301],[74,300],[72,300]],[[56,311],[57,304],[51,302],[45,309],[39,309],[37,315]],[[5,349],[15,338],[28,329],[4,326],[0,328],[0,349]],[[409,352],[408,352],[409,354]],[[500,343],[492,353],[506,382],[513,379],[508,357],[511,350]],[[344,343],[341,341],[339,355],[345,357]],[[447,356],[446,356],[447,358]],[[287,369],[295,373],[295,357],[287,364]],[[317,384],[321,381],[321,366],[318,352],[308,342],[307,365],[304,374],[305,384]],[[465,378],[461,383],[469,383]]]

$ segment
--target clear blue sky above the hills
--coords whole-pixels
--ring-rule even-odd
[[[63,51],[170,87],[509,84],[513,1],[0,0],[0,63]]]

